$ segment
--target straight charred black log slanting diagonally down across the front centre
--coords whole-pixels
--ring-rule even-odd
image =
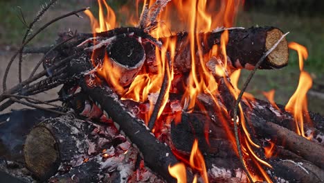
[[[136,145],[143,155],[145,164],[168,182],[175,182],[169,174],[168,166],[177,164],[179,161],[170,148],[157,140],[143,121],[127,112],[126,107],[118,101],[118,96],[109,87],[89,87],[85,79],[81,80],[80,87],[100,106],[104,114],[116,122],[115,125],[120,128],[120,132],[124,132],[126,137]],[[187,175],[189,180],[192,179],[189,172]]]

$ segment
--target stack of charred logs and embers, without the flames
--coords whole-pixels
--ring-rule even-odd
[[[201,45],[196,48],[197,57],[199,54],[208,55],[213,46],[219,46],[224,31],[228,31],[229,35],[226,51],[228,67],[232,70],[253,69],[263,53],[271,49],[282,36],[282,31],[273,27],[199,33],[197,36]],[[93,69],[97,66],[99,68],[107,56],[113,68],[118,67],[123,71],[119,82],[125,89],[138,73],[148,71],[154,74],[158,64],[155,49],[159,49],[159,45],[163,45],[167,37],[154,42],[154,38],[140,28],[115,28],[98,33],[97,40],[102,40],[105,44],[89,42],[92,36],[78,34],[73,42],[79,46],[56,49],[54,55],[48,55],[48,62],[44,62],[44,67],[48,68],[67,55],[82,51],[66,67],[66,72],[75,79],[66,82],[60,94],[69,94],[73,87],[80,87],[81,92],[74,99],[64,101],[73,108],[74,113],[46,119],[35,125],[27,135],[24,157],[26,167],[33,176],[49,182],[176,182],[170,175],[168,166],[181,162],[179,155],[188,157],[192,144],[197,139],[199,150],[204,154],[210,182],[247,181],[233,139],[228,134],[228,131],[233,133],[234,129],[229,114],[235,103],[230,92],[231,85],[226,85],[226,82],[230,82],[228,78],[217,78],[219,94],[213,96],[216,102],[208,95],[201,94],[197,97],[197,101],[206,109],[204,111],[196,106],[190,112],[183,108],[174,112],[172,106],[181,101],[183,85],[172,83],[177,86],[178,93],[170,96],[162,116],[155,123],[157,130],[153,134],[141,119],[143,112],[147,112],[141,110],[143,106],[149,106],[150,101],[122,101],[119,93],[111,86],[111,80],[98,76],[96,79],[100,82],[89,81],[93,81],[91,74],[96,75],[96,70]],[[68,38],[61,36],[58,42]],[[108,42],[109,39],[111,41]],[[174,74],[181,76],[181,80],[186,83],[192,67],[188,33],[178,33],[172,39],[177,39],[179,45],[174,57]],[[220,59],[225,60],[222,57]],[[205,61],[196,62],[196,67],[199,68],[210,60]],[[287,62],[288,47],[287,40],[284,39],[259,69],[278,69],[285,67]],[[213,73],[213,69],[210,72]],[[258,157],[272,165],[272,168],[264,168],[270,180],[324,180],[324,162],[321,161],[324,159],[324,131],[321,125],[324,119],[321,116],[311,115],[316,125],[314,128],[305,128],[316,136],[307,140],[296,135],[294,128],[287,125],[294,122],[294,118],[282,107],[275,109],[264,101],[244,99],[242,111],[253,141],[261,147],[253,150]],[[170,123],[166,123],[165,116],[170,117]],[[181,116],[180,120],[177,116]],[[239,130],[242,132],[242,128]],[[264,149],[271,144],[274,144],[273,155],[265,157]],[[187,180],[192,180],[196,173],[195,169],[187,168]],[[255,174],[260,175],[260,172],[256,170]]]

